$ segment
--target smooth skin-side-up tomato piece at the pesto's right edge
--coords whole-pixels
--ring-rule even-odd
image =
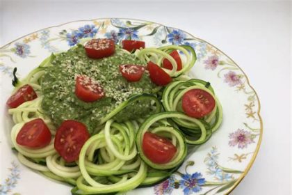
[[[148,62],[147,70],[151,81],[158,86],[165,86],[172,81],[170,75],[152,61]]]

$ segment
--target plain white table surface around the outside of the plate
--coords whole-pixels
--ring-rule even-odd
[[[290,194],[289,1],[1,1],[0,45],[47,26],[127,17],[184,29],[241,66],[261,101],[263,141],[248,176],[232,194]]]

